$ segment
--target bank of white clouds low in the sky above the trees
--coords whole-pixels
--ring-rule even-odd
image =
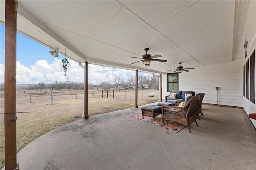
[[[66,72],[61,68],[61,59],[55,59],[53,63],[46,60],[36,61],[30,64],[30,67],[24,66],[20,61],[16,62],[16,83],[17,84],[52,84],[55,81],[65,82],[84,82],[84,69],[78,65],[78,62],[68,60],[71,67]],[[88,82],[92,84],[100,84],[101,82],[111,82],[113,75],[120,75],[123,80],[127,80],[131,75],[135,74],[133,70],[125,70],[120,68],[112,68],[99,66],[95,64],[88,65]],[[141,73],[140,73],[141,74]],[[151,76],[149,73],[144,75]],[[0,64],[0,83],[4,83],[4,65]]]

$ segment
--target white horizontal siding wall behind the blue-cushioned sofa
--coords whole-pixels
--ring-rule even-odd
[[[162,91],[167,92],[167,74],[163,76]],[[230,63],[214,64],[197,67],[190,72],[179,74],[179,90],[192,90],[196,93],[205,93],[203,103],[227,106],[243,106],[243,60]]]

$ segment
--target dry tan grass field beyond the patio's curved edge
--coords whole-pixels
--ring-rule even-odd
[[[156,96],[148,97],[147,94],[153,91]],[[105,94],[104,94],[105,95]],[[111,111],[134,107],[135,92],[115,92],[115,98],[101,98],[96,96],[88,97],[89,116],[108,113]],[[106,96],[106,95],[105,95]],[[113,97],[113,95],[109,96]],[[141,100],[143,98],[143,100]],[[59,95],[58,101],[54,99],[50,104],[50,96],[43,95],[33,97],[30,103],[29,97],[19,97],[17,100],[17,152],[28,145],[37,137],[57,127],[81,119],[83,113],[83,95]],[[158,90],[146,90],[138,92],[138,105],[157,102]],[[0,112],[4,113],[4,99],[0,99]],[[18,113],[30,112],[30,113]],[[90,118],[89,118],[90,119]],[[4,114],[0,114],[0,155],[1,167],[4,165]]]

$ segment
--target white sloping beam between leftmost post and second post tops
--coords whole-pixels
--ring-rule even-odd
[[[63,45],[64,48],[66,48],[68,51],[74,53],[75,55],[77,55],[78,57],[80,57],[81,59],[83,59],[84,61],[86,61],[86,57],[84,55],[82,55],[80,52],[78,52],[74,47],[72,47],[70,44],[68,44],[64,39],[62,39],[60,36],[58,36],[56,33],[54,33],[51,29],[49,29],[44,23],[42,23],[40,20],[38,20],[38,18],[36,18],[35,16],[33,16],[30,12],[28,12],[28,10],[26,10],[22,5],[18,4],[18,14],[20,14],[20,16],[18,16],[19,18],[24,18],[28,21],[30,21],[31,23],[33,23],[34,25],[36,25],[38,28],[40,28],[42,31],[44,31],[47,35],[49,35],[50,37],[52,37],[52,39],[56,40],[58,43],[60,43],[60,45]],[[24,34],[24,33],[23,33]],[[24,34],[25,35],[25,34]],[[26,35],[27,37],[30,37],[29,35]],[[34,39],[34,37],[30,37],[32,39]],[[37,40],[38,41],[38,40]],[[40,42],[39,43],[45,45],[44,42]],[[52,47],[49,47],[51,49],[53,49]],[[69,56],[68,56],[69,57]],[[72,59],[71,57],[69,57],[70,59]],[[75,60],[76,61],[76,60]]]

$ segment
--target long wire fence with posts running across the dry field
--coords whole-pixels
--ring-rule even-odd
[[[157,88],[138,89],[138,100],[148,98],[148,93],[154,92],[155,98],[158,97]],[[65,91],[54,92],[53,101],[83,99],[84,91]],[[118,89],[118,90],[88,90],[88,98],[115,98],[115,99],[134,99],[135,89]],[[16,104],[46,102],[51,101],[50,92],[31,91],[30,93],[16,94]],[[4,94],[0,94],[0,105],[4,105]]]

